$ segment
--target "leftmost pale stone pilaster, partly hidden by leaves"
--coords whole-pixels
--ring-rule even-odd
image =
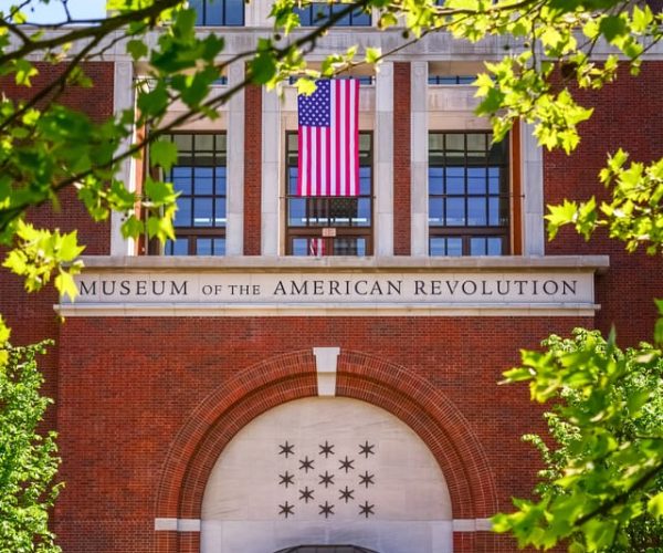
[[[119,114],[123,109],[134,106],[134,64],[129,61],[116,61],[113,77],[113,113]],[[122,149],[130,146],[131,138],[126,138]],[[136,159],[125,159],[119,169],[118,178],[124,181],[129,190],[136,189]],[[110,215],[110,254],[134,255],[135,241],[122,236],[120,227],[123,215],[113,211]]]

